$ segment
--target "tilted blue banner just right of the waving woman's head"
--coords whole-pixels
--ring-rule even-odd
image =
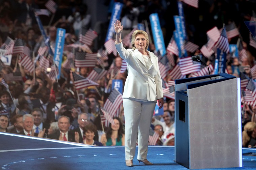
[[[163,33],[160,27],[160,21],[157,13],[153,13],[149,16],[151,23],[151,30],[154,38],[156,51],[160,51],[161,55],[165,55],[166,49],[164,45]]]

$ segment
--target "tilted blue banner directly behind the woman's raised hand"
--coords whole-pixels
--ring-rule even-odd
[[[112,39],[113,34],[115,33],[114,23],[116,22],[116,20],[120,19],[122,8],[123,8],[123,4],[119,2],[116,2],[114,4],[111,19],[109,21],[109,25],[107,29],[107,36],[106,36],[105,42],[108,41],[109,39]]]

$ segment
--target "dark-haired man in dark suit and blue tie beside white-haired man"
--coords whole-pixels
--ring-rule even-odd
[[[45,132],[47,134],[50,124],[42,122],[43,121],[43,111],[39,108],[34,108],[31,111],[31,114],[34,117],[34,125],[33,125],[34,132],[39,133],[40,131],[43,131],[43,129],[45,129]]]

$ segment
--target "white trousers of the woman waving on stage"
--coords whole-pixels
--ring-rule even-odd
[[[125,160],[134,158],[137,137],[137,159],[147,159],[149,128],[156,102],[141,102],[124,98],[123,106],[125,116]]]

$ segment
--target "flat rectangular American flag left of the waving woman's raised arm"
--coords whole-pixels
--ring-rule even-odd
[[[75,66],[76,67],[95,67],[97,53],[75,52]]]

